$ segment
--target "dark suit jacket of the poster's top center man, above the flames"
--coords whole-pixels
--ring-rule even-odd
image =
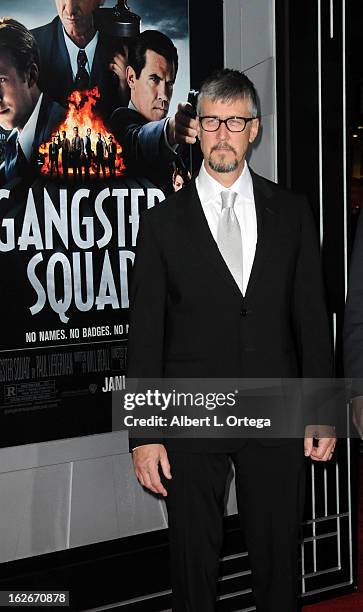
[[[75,87],[62,22],[55,17],[51,23],[32,30],[32,34],[40,48],[39,85],[53,100],[66,106]],[[97,103],[97,110],[105,117],[109,117],[119,106],[116,95],[118,83],[109,70],[111,57],[109,43],[100,32],[90,74],[90,89],[98,86],[101,99]]]

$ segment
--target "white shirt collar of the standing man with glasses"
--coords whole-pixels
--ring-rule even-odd
[[[226,187],[216,181],[205,169],[204,161],[201,165],[199,174],[196,178],[197,191],[201,202],[207,202],[209,200],[220,200],[221,191],[226,190]],[[235,191],[245,200],[254,200],[253,197],[253,184],[250,170],[247,162],[245,162],[242,173],[238,179],[228,188],[231,191]]]

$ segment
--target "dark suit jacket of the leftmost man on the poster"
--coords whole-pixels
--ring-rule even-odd
[[[52,135],[56,132],[59,126],[65,119],[65,109],[63,106],[54,102],[50,99],[47,94],[43,94],[42,103],[39,109],[39,116],[37,125],[35,128],[35,135],[33,140],[32,154],[28,164],[24,164],[21,169],[21,176],[19,179],[31,182],[38,174],[39,170],[39,147],[41,144],[51,141]],[[5,182],[5,164],[6,164],[6,147],[5,147],[5,161],[0,168],[0,182]]]

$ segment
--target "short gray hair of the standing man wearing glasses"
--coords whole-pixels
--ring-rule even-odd
[[[258,116],[257,93],[254,84],[239,70],[224,68],[217,70],[203,82],[198,96],[197,114],[200,114],[203,98],[212,102],[231,102],[238,98],[247,98],[253,117]]]

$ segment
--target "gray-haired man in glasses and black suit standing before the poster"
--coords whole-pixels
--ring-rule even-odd
[[[304,197],[249,170],[258,128],[245,75],[226,69],[206,80],[198,120],[185,133],[200,140],[198,177],[140,218],[129,377],[331,375],[313,217]],[[303,457],[326,461],[335,446],[320,427],[314,432],[316,447],[310,431],[304,446],[299,439],[131,439],[140,483],[166,496],[174,612],[215,609],[230,458],[256,609],[297,610]]]

